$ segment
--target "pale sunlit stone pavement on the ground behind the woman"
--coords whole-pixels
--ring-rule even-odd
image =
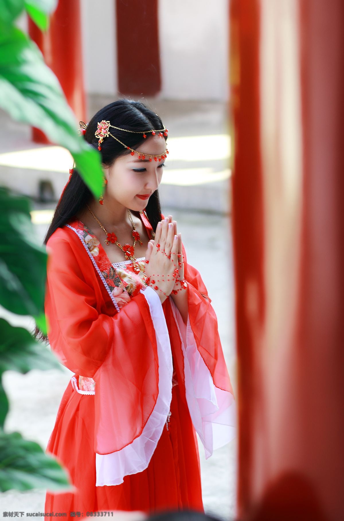
[[[36,204],[36,208],[48,205]],[[218,317],[220,337],[234,388],[236,387],[234,292],[232,254],[228,219],[216,215],[164,208],[173,214],[182,232],[188,262],[198,268],[207,286]],[[36,225],[42,240],[47,225]],[[14,325],[30,327],[30,319],[6,316]],[[32,325],[32,324],[31,324]],[[8,431],[19,431],[27,439],[46,446],[53,429],[58,405],[70,379],[70,371],[30,371],[19,375],[8,371],[4,386],[10,399],[6,420]],[[232,441],[205,460],[200,447],[202,491],[205,511],[222,519],[233,519],[236,497],[236,442]],[[0,515],[3,511],[43,512],[45,491],[0,494]]]

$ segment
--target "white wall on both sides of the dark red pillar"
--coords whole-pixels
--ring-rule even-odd
[[[228,3],[158,1],[161,97],[227,100]],[[117,95],[116,0],[82,0],[81,18],[85,89]]]

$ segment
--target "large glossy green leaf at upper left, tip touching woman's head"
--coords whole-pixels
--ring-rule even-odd
[[[99,197],[103,190],[100,154],[78,133],[58,80],[38,47],[16,28],[0,35],[0,92],[0,106],[13,119],[41,129],[50,141],[78,158],[81,176]]]

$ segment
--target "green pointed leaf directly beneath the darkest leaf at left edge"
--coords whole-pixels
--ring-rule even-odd
[[[7,370],[28,373],[31,369],[61,369],[57,358],[29,331],[0,318],[0,374]]]

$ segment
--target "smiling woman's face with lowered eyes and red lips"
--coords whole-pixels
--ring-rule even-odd
[[[151,136],[136,150],[142,154],[163,154],[165,139]],[[139,159],[137,154],[119,156],[112,166],[104,168],[107,179],[105,197],[109,196],[131,210],[143,210],[161,182],[163,168],[164,159],[159,162],[152,158],[150,162],[149,158]]]

